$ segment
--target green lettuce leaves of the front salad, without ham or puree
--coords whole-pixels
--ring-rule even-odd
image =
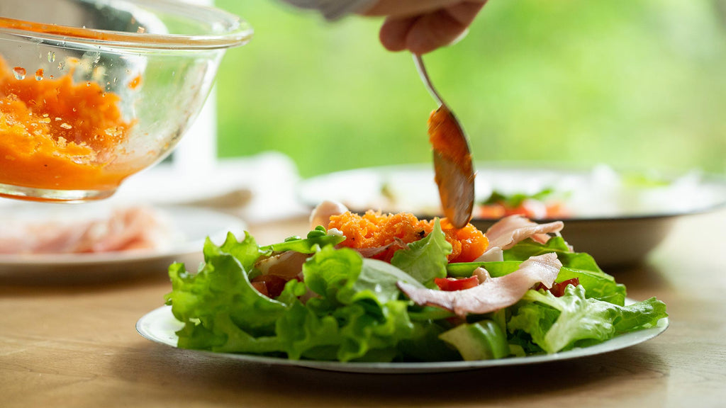
[[[264,247],[246,233],[241,241],[228,234],[219,246],[206,240],[196,272],[184,264],[169,267],[166,303],[184,323],[179,347],[343,362],[450,361],[462,354],[497,358],[587,346],[667,316],[655,298],[622,306],[624,286],[557,238],[547,245],[521,242],[503,262],[467,264],[447,264],[452,248],[438,220],[431,234],[397,251],[391,264],[335,249],[343,239],[319,227],[304,239]],[[287,282],[276,300],[261,295],[250,284],[259,273],[256,261],[287,250],[310,254],[304,280]],[[432,287],[436,277],[467,277],[478,266],[500,277],[518,269],[519,258],[548,252],[566,259],[558,282],[576,277],[578,287],[569,286],[561,298],[529,290],[515,306],[473,317],[458,331],[451,312],[416,306],[397,287]],[[492,325],[506,327],[508,348]]]

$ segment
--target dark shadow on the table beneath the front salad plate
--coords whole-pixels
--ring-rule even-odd
[[[122,380],[139,383],[146,398],[236,401],[238,406],[317,407],[537,401],[544,395],[587,395],[600,383],[664,378],[668,367],[645,346],[544,364],[427,374],[351,374],[275,367],[156,344],[117,356]],[[604,384],[603,384],[604,385]],[[113,398],[113,396],[109,396]]]

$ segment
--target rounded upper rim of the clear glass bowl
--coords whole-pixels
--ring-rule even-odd
[[[113,5],[114,2],[124,4],[139,4],[155,10],[163,10],[173,15],[184,17],[205,13],[210,22],[220,23],[224,26],[222,33],[201,35],[160,34],[160,33],[130,33],[115,30],[100,30],[91,28],[73,27],[70,25],[57,25],[37,23],[27,20],[17,20],[9,17],[0,17],[0,36],[20,36],[34,41],[52,41],[60,44],[88,44],[100,48],[114,47],[138,50],[199,50],[199,49],[227,49],[241,46],[250,41],[253,28],[237,15],[215,7],[206,7],[189,4],[181,1],[168,0],[112,0],[99,1],[102,4]]]

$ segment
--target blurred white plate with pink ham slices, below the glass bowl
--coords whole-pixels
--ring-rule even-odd
[[[21,203],[0,213],[0,280],[69,284],[165,276],[203,261],[204,240],[241,236],[236,216],[185,205]]]

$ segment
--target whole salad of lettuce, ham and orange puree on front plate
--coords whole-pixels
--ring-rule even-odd
[[[561,221],[507,216],[481,232],[411,213],[324,202],[306,237],[205,242],[169,267],[179,348],[331,362],[452,362],[552,355],[658,325],[656,298],[578,253]]]

